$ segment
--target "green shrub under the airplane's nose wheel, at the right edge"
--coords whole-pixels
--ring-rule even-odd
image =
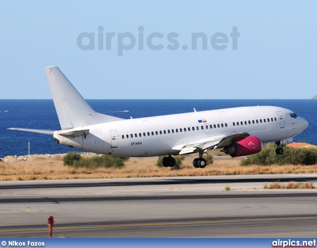
[[[275,145],[265,145],[261,152],[247,156],[243,159],[241,165],[314,165],[317,163],[316,149],[284,146],[284,153],[282,155],[277,155],[275,149]]]

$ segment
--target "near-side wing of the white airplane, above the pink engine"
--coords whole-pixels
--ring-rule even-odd
[[[179,152],[179,155],[198,152],[199,150],[207,151],[210,149],[225,147],[225,146],[230,145],[232,143],[239,142],[240,140],[243,140],[248,136],[250,136],[249,133],[241,132],[241,133],[236,133],[236,134],[232,134],[229,136],[211,137],[210,139],[204,140],[201,143],[186,145]]]

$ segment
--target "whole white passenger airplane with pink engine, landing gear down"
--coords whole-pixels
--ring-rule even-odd
[[[263,143],[293,142],[308,122],[288,109],[273,106],[238,107],[191,113],[121,119],[95,112],[57,66],[44,67],[61,130],[8,128],[53,135],[61,145],[122,157],[162,159],[173,167],[175,155],[198,153],[195,168],[207,165],[203,154],[222,148],[231,157],[262,150]]]

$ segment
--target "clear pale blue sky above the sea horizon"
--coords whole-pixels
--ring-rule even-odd
[[[317,1],[289,0],[2,0],[0,99],[51,99],[43,69],[51,65],[86,99],[309,99],[317,95],[316,10]],[[78,46],[85,32],[95,43],[79,42],[94,50]],[[207,49],[199,38],[193,50],[200,32]],[[110,50],[106,33],[114,33]]]

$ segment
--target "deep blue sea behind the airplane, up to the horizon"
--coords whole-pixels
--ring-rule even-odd
[[[86,100],[99,113],[124,119],[171,115],[243,106],[278,106],[308,121],[294,137],[317,145],[317,100]],[[58,154],[79,151],[55,143],[52,135],[8,130],[9,127],[59,130],[53,100],[0,100],[0,158],[9,155]]]

